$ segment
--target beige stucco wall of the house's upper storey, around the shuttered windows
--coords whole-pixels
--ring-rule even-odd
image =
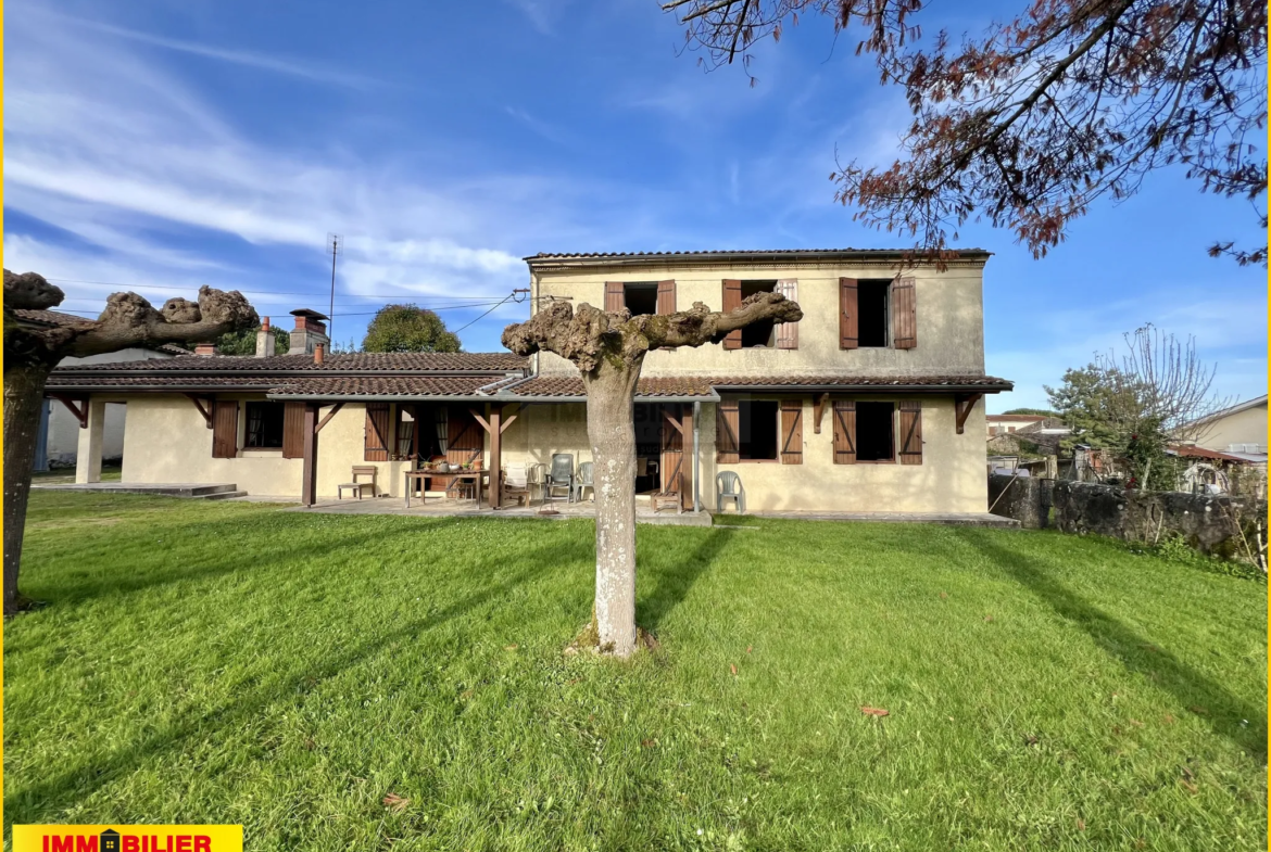
[[[984,373],[984,270],[979,264],[951,265],[941,273],[933,268],[905,272],[915,279],[918,298],[918,345],[913,349],[839,349],[839,278],[891,278],[895,269],[878,265],[811,267],[719,265],[675,267],[649,264],[637,270],[588,268],[568,272],[535,272],[531,286],[538,306],[545,296],[569,296],[573,305],[602,306],[605,282],[648,282],[674,278],[676,309],[704,302],[712,310],[723,309],[723,279],[796,279],[799,321],[798,349],[724,349],[707,344],[699,349],[652,352],[644,361],[643,375],[684,373],[760,376],[760,375],[982,375]],[[552,354],[539,356],[543,373],[576,375],[574,367]]]

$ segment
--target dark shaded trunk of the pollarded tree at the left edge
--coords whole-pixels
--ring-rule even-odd
[[[25,604],[18,593],[22,537],[27,526],[31,471],[39,438],[39,406],[44,404],[43,364],[14,364],[4,372],[4,615]]]

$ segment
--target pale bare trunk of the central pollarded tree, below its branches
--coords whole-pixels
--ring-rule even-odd
[[[596,484],[596,635],[601,651],[620,658],[636,650],[634,399],[643,361],[606,361],[583,373]]]

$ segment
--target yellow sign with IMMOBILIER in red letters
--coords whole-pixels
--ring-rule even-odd
[[[14,825],[13,852],[243,852],[243,827]]]

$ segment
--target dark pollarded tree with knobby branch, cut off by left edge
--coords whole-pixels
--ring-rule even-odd
[[[136,293],[113,293],[95,320],[24,321],[20,311],[47,311],[64,293],[33,272],[4,270],[4,615],[24,604],[18,592],[23,527],[36,458],[39,406],[48,373],[66,357],[128,347],[214,340],[259,323],[238,291],[198,290],[198,302],[170,298],[161,310]]]

